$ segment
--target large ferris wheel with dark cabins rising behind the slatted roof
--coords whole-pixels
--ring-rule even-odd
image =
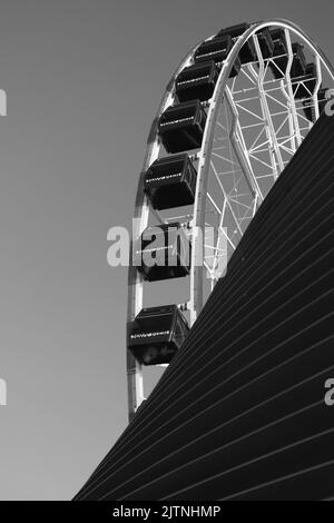
[[[324,53],[286,20],[223,29],[177,67],[149,132],[134,213],[130,420],[145,399],[144,368],[169,364],[333,87]]]

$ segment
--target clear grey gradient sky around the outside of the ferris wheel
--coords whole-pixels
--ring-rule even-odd
[[[198,40],[287,18],[334,61],[332,0],[2,0],[0,499],[70,499],[127,424],[129,226],[151,119]]]

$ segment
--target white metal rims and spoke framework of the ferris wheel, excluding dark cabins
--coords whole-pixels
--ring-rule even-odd
[[[277,57],[275,60],[265,59],[262,55],[257,34],[265,28],[282,28],[285,32],[287,65],[284,71],[279,70]],[[232,67],[248,40],[253,40],[256,60],[245,63],[237,76],[229,78]],[[304,46],[308,60],[315,65],[315,88],[312,92],[302,77],[293,81],[291,78],[294,58],[292,42],[295,41]],[[175,79],[185,67],[193,63],[197,47],[175,71],[154,120],[134,215],[135,238],[140,237],[150,218],[155,224],[168,224],[177,219],[189,235],[189,295],[179,304],[179,308],[189,315],[190,326],[217,280],[217,267],[223,276],[228,259],[259,205],[320,117],[317,97],[322,82],[328,82],[328,88],[334,86],[334,70],[331,63],[297,26],[285,20],[271,20],[250,26],[235,40],[227,59],[222,63],[212,99],[203,102],[207,119],[202,148],[191,151],[190,156],[197,168],[194,207],[187,208],[187,213],[181,216],[173,216],[173,210],[165,215],[150,207],[143,190],[143,179],[153,161],[164,156],[157,129],[158,118],[176,101]],[[275,79],[273,68],[277,68],[281,78]],[[295,97],[301,86],[308,93],[303,100]],[[314,121],[306,118],[305,107],[313,109]],[[204,230],[205,226],[214,227],[217,235],[216,244],[203,251],[203,244],[196,231]],[[196,264],[198,256],[203,256],[203,265]],[[130,267],[128,322],[143,308],[144,288],[145,284],[136,267]],[[130,354],[127,357],[127,373],[131,418],[144,399],[144,383],[141,366]]]

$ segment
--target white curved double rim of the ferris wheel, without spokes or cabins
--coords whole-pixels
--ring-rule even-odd
[[[225,87],[229,78],[230,70],[235,60],[237,59],[242,47],[247,40],[253,38],[258,31],[266,28],[281,28],[289,34],[292,32],[294,36],[299,38],[308,49],[314,53],[314,56],[320,60],[322,66],[327,71],[328,76],[334,81],[334,68],[322,51],[322,49],[307,36],[297,24],[285,19],[271,19],[267,21],[255,22],[249,26],[249,28],[235,41],[233,45],[226,60],[223,62],[223,67],[219,71],[215,90],[213,97],[208,102],[208,111],[206,118],[206,125],[204,129],[204,136],[202,141],[202,148],[198,152],[198,167],[197,167],[197,182],[196,182],[196,194],[194,203],[194,213],[193,213],[193,230],[196,230],[199,227],[202,230],[205,225],[205,200],[206,200],[206,187],[209,175],[209,162],[212,156],[213,139],[215,132],[215,125],[218,117],[219,107],[224,99]],[[213,39],[214,36],[207,38],[205,41]],[[150,206],[148,198],[144,193],[144,176],[149,166],[158,158],[160,150],[160,142],[158,136],[158,120],[161,114],[174,102],[174,90],[175,90],[175,80],[179,72],[191,63],[191,59],[196,49],[199,45],[203,43],[203,40],[198,42],[179,62],[178,67],[175,69],[171,79],[169,80],[165,93],[160,100],[156,118],[150,128],[150,132],[147,140],[146,152],[144,157],[144,165],[141,175],[139,177],[135,213],[134,213],[134,237],[139,238],[144,229],[147,227],[148,216]],[[291,55],[291,40],[288,38],[289,55]],[[193,241],[196,241],[195,236]],[[196,247],[196,246],[195,246]],[[188,302],[190,309],[190,326],[196,319],[197,314],[203,307],[203,266],[194,264],[194,257],[196,256],[196,248],[191,249],[191,264],[190,264],[190,299]],[[128,322],[134,320],[137,314],[143,308],[143,293],[144,293],[144,282],[137,272],[136,267],[130,266],[128,273]],[[141,366],[138,362],[135,362],[131,355],[128,355],[128,393],[130,404],[136,404],[136,408],[140,405],[144,399],[143,391],[143,375]],[[137,399],[134,399],[134,398]],[[135,409],[136,409],[135,408]],[[131,409],[131,408],[130,408]]]

